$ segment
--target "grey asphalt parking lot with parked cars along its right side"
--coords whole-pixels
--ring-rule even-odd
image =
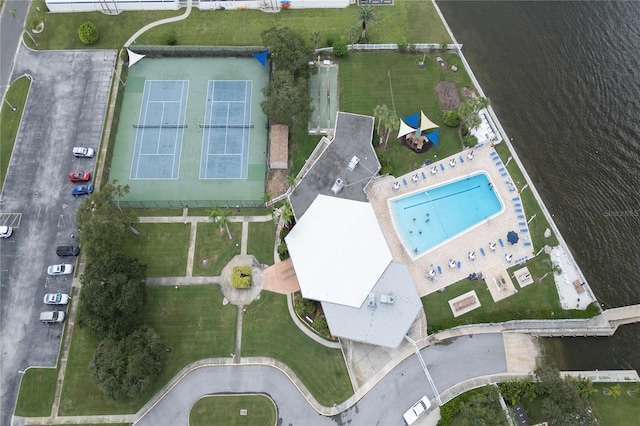
[[[55,247],[71,243],[75,211],[71,170],[93,172],[94,159],[73,157],[73,146],[98,148],[115,51],[32,52],[20,47],[16,76],[33,76],[31,91],[0,211],[21,215],[14,235],[0,241],[0,424],[9,425],[20,371],[54,366],[62,325],[44,325],[45,293],[69,292],[71,277],[48,277],[48,265],[63,263]],[[69,260],[69,262],[67,262]],[[65,258],[64,263],[75,263]]]

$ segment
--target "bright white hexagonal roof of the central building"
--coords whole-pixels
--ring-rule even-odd
[[[391,262],[371,204],[318,195],[285,238],[302,295],[359,308]]]

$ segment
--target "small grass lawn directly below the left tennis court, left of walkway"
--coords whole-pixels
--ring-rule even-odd
[[[122,251],[146,263],[149,277],[184,277],[191,227],[183,223],[141,223],[137,229],[142,235],[128,234]]]

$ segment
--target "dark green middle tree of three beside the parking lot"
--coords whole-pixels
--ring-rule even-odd
[[[100,337],[119,337],[138,325],[146,300],[147,266],[118,253],[89,264],[80,277],[82,305],[78,324]]]

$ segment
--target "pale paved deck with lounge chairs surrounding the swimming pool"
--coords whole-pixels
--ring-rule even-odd
[[[526,215],[522,203],[519,201],[518,190],[514,189],[514,187],[519,188],[523,184],[518,182],[515,182],[515,184],[507,183],[512,182],[511,177],[508,174],[504,175],[507,173],[506,167],[499,159],[496,159],[497,153],[492,147],[484,145],[473,149],[472,160],[468,159],[468,153],[469,151],[463,151],[451,157],[443,158],[397,178],[393,176],[381,177],[372,182],[367,190],[367,196],[378,217],[380,228],[391,250],[393,261],[406,264],[409,267],[411,277],[420,297],[456,283],[472,273],[477,274],[485,270],[504,268],[504,274],[507,276],[507,268],[521,263],[519,260],[525,257],[531,259],[534,256],[533,246],[525,246],[526,243],[530,244],[528,226],[526,224],[529,216]],[[449,163],[451,159],[455,159],[453,167]],[[437,170],[435,174],[431,173],[432,167]],[[484,172],[489,176],[494,190],[504,206],[503,210],[465,233],[414,259],[407,252],[396,233],[388,200],[401,195],[424,191],[430,187],[478,172]],[[422,176],[423,173],[426,178]],[[418,175],[417,182],[414,181],[415,179],[412,180],[412,177],[416,174]],[[400,185],[398,189],[394,189],[395,182]],[[521,223],[524,223],[524,225],[520,225]],[[521,232],[521,229],[527,229],[527,232]],[[507,233],[509,231],[518,233],[520,237],[518,243],[512,245],[507,242]],[[499,239],[502,240],[504,246],[499,243]],[[496,244],[495,251],[489,248],[489,243],[492,242]],[[484,250],[484,255],[482,255],[481,248]],[[475,252],[475,260],[469,259],[469,252]],[[511,262],[507,261],[507,255],[511,256]],[[449,267],[450,260],[456,263],[455,267]],[[460,262],[459,268],[458,262]],[[431,270],[436,271],[436,275],[433,278],[428,275]]]

